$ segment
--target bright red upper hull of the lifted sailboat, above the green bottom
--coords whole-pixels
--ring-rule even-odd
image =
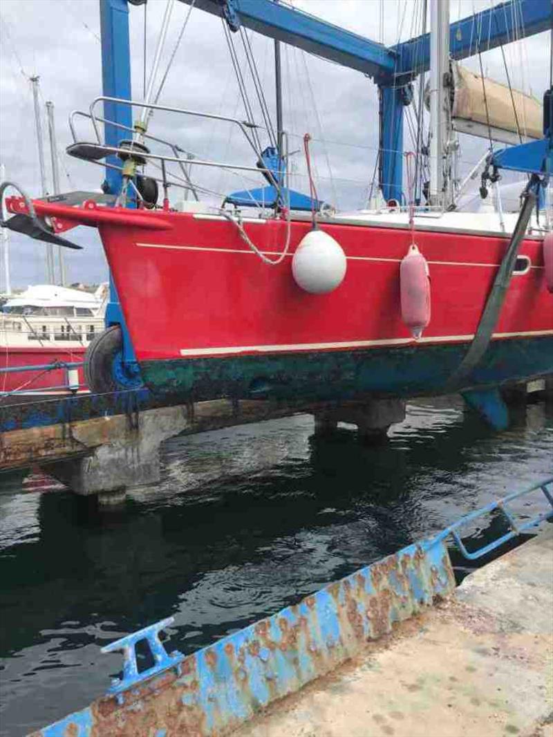
[[[313,296],[293,281],[291,257],[265,265],[231,223],[163,217],[174,228],[155,234],[100,226],[139,361],[414,342],[400,314],[400,262],[411,242],[406,230],[322,226],[344,248],[347,274],[333,293]],[[309,228],[293,223],[291,254]],[[263,251],[282,248],[284,223],[246,229]],[[432,317],[422,342],[470,340],[507,239],[432,231],[415,238],[431,276]],[[553,334],[542,242],[525,240],[520,253],[531,268],[513,276],[496,338]]]

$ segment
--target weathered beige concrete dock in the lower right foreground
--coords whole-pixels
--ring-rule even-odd
[[[552,736],[552,525],[233,734]]]

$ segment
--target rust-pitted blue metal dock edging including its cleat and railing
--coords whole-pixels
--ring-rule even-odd
[[[551,509],[516,523],[507,503],[538,489]],[[506,514],[511,531],[479,551],[467,551],[459,528],[494,510]],[[159,643],[159,631],[173,618],[146,627],[102,650],[125,650],[123,680],[104,698],[38,735],[228,733],[271,702],[333,670],[360,652],[367,640],[390,632],[395,622],[451,593],[455,580],[446,547],[449,537],[465,557],[475,559],[550,517],[553,478],[467,514],[437,536],[361,568],[189,657],[168,656]],[[158,662],[167,658],[167,666],[138,674],[134,646],[145,638],[153,640],[155,652],[161,648]]]

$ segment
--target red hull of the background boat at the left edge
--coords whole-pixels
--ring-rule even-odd
[[[41,366],[46,363],[55,363],[55,361],[79,362],[84,360],[85,350],[85,348],[72,348],[63,351],[55,348],[0,347],[0,367]],[[83,368],[80,367],[78,371],[79,383],[84,384]],[[56,368],[46,372],[43,369],[37,369],[36,371],[13,371],[9,374],[0,374],[0,392],[18,389],[34,391],[35,389],[63,386],[66,383],[67,377],[64,368]]]

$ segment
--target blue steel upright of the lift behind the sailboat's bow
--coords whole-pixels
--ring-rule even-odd
[[[100,0],[100,33],[102,36],[102,90],[106,97],[131,99],[131,46],[128,27],[127,0]],[[104,118],[120,125],[132,127],[133,118],[129,105],[104,103]],[[119,144],[121,133],[114,125],[105,125],[105,142],[108,146]],[[109,156],[108,164],[121,166],[116,156]],[[121,189],[121,173],[106,167],[103,188],[111,194]],[[123,335],[123,361],[136,365],[131,337],[119,304],[114,280],[109,276],[110,301],[105,311],[105,326],[120,325]]]

